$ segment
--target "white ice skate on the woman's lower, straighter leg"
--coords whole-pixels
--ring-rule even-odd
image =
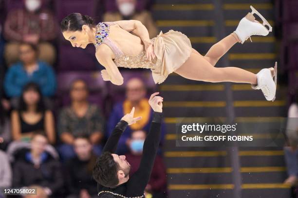
[[[274,77],[274,81],[273,81]],[[277,86],[277,62],[275,66],[261,69],[257,73],[258,84],[251,84],[253,89],[261,89],[267,100],[275,100],[276,86]]]

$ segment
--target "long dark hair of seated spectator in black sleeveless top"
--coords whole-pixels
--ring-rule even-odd
[[[42,94],[41,94],[41,91],[39,89],[39,86],[37,83],[35,82],[29,82],[27,83],[24,87],[23,87],[23,92],[22,92],[22,95],[19,99],[19,111],[20,112],[25,112],[28,110],[28,105],[26,104],[25,100],[24,100],[24,93],[26,91],[29,91],[29,90],[34,90],[38,93],[39,95],[39,100],[37,102],[37,109],[36,111],[37,112],[45,112],[46,109],[45,109],[45,105],[43,103],[43,97],[42,97]]]

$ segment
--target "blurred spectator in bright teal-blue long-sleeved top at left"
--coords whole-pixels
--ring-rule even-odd
[[[53,96],[56,91],[56,76],[51,66],[38,61],[36,45],[22,43],[18,52],[21,62],[11,66],[5,75],[6,95],[10,98],[19,97],[26,83],[36,82],[43,96]]]

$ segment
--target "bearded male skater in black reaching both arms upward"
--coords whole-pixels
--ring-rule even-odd
[[[157,96],[158,94],[159,92],[153,93],[149,98],[149,105],[154,111],[153,118],[144,142],[140,167],[131,177],[129,177],[130,164],[125,160],[125,156],[119,156],[113,152],[126,127],[134,124],[141,117],[133,117],[133,107],[114,128],[93,169],[93,178],[98,182],[100,198],[145,198],[144,190],[149,181],[160,142],[163,98]]]

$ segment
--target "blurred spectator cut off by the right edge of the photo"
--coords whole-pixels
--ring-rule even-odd
[[[294,101],[288,111],[286,135],[288,139],[287,147],[284,147],[285,160],[288,171],[288,178],[284,181],[292,186],[298,185],[298,90],[296,101]]]

